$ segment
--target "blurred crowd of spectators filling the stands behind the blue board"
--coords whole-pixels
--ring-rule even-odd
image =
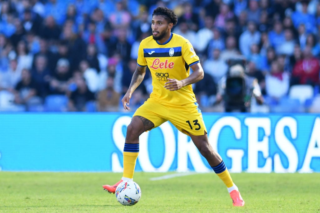
[[[265,97],[252,111],[319,112],[319,0],[1,0],[0,111],[122,111],[157,6],[176,12],[172,32],[200,57],[203,111],[223,109],[217,85],[228,60],[243,58]],[[312,94],[292,102],[296,85]],[[147,70],[130,108],[151,91]]]

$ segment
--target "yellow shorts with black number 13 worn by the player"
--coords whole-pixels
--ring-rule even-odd
[[[184,106],[163,105],[149,98],[133,114],[150,120],[156,128],[166,121],[170,121],[180,132],[187,135],[204,135],[207,129],[197,103]]]

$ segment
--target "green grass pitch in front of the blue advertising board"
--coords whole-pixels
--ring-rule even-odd
[[[320,212],[320,173],[232,173],[244,207],[213,172],[150,180],[171,174],[136,172],[141,199],[122,206],[102,188],[120,173],[1,171],[0,212]]]

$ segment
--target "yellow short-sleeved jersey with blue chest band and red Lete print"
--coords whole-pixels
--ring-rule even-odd
[[[168,78],[182,80],[189,76],[190,66],[199,63],[191,43],[184,37],[171,33],[170,39],[160,44],[152,35],[140,42],[137,63],[148,66],[152,77],[150,98],[169,104],[182,106],[195,103],[192,86],[188,85],[176,91],[164,88]]]

